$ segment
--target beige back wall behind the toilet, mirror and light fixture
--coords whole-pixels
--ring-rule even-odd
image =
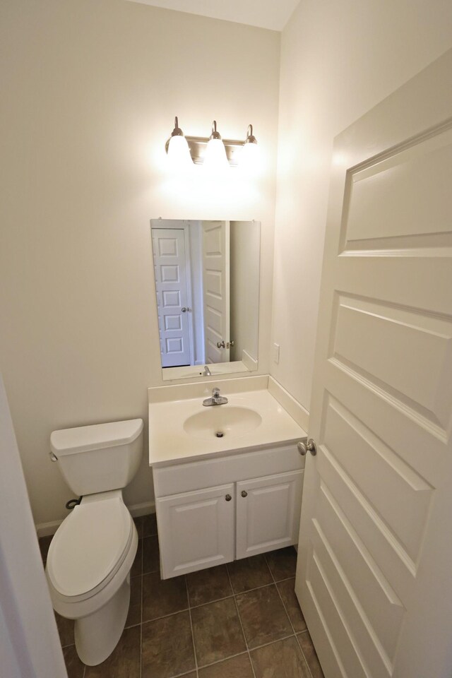
[[[53,429],[146,418],[160,383],[150,218],[260,220],[271,294],[280,35],[123,0],[1,8],[0,368],[37,523],[71,496]],[[254,124],[264,172],[189,190],[162,169],[174,115]],[[261,312],[268,371],[270,310]],[[128,504],[152,499],[143,461]]]

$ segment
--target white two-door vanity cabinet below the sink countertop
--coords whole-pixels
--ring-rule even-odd
[[[296,444],[154,468],[163,579],[296,544]]]

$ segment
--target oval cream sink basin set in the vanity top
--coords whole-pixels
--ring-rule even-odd
[[[184,431],[195,438],[243,436],[262,423],[261,415],[249,408],[213,405],[191,415],[184,422]]]

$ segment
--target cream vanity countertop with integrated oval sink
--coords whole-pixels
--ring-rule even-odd
[[[203,398],[206,396],[150,402],[149,465],[172,465],[199,460],[200,457],[210,458],[219,454],[249,451],[256,447],[290,444],[306,436],[304,429],[273,398],[267,388],[225,395],[227,404],[208,408],[203,406]],[[239,415],[244,413],[244,417],[250,416],[254,421],[260,418],[261,421],[250,430],[234,431],[234,412]],[[187,420],[190,417],[191,422],[200,420],[200,417],[216,417],[220,422],[223,418],[225,421],[229,418],[233,424],[228,429],[227,425],[222,427],[220,423],[219,427],[224,429],[224,434],[218,438],[215,431],[210,432],[206,427],[199,432],[192,427],[191,432],[187,432]],[[245,429],[246,425],[245,423]]]

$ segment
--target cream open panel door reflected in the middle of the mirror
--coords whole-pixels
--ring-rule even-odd
[[[229,362],[230,224],[228,221],[202,224],[206,362]]]

